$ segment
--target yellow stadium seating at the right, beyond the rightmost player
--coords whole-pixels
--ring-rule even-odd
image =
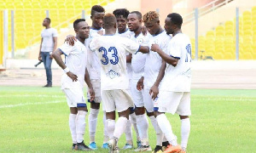
[[[239,59],[256,59],[256,6],[244,11],[239,17]],[[195,39],[191,38],[193,54]],[[205,55],[213,59],[236,59],[236,19],[227,20],[198,42],[199,59]]]

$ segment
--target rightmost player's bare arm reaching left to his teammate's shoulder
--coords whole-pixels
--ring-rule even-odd
[[[152,44],[151,46],[151,50],[154,51],[154,52],[157,52],[160,57],[162,59],[164,59],[166,61],[166,63],[168,63],[169,65],[172,65],[172,66],[176,66],[177,65],[177,61],[178,59],[175,59],[173,58],[172,56],[169,56],[168,54],[166,54],[165,52],[163,52],[160,47],[158,46],[158,44]]]

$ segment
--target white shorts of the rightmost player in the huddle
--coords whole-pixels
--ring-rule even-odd
[[[154,111],[156,110],[190,116],[190,92],[160,91],[159,98],[154,103]]]

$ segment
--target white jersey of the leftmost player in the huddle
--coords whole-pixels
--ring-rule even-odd
[[[68,69],[78,77],[78,81],[73,82],[73,80],[64,73],[61,77],[61,89],[83,88],[87,63],[87,49],[85,48],[84,43],[78,40],[71,46],[65,42],[59,49],[65,54],[65,65],[67,65]]]

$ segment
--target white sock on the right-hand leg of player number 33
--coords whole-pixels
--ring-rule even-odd
[[[120,116],[117,122],[115,123],[113,137],[119,139],[123,133],[125,133],[127,118]]]

